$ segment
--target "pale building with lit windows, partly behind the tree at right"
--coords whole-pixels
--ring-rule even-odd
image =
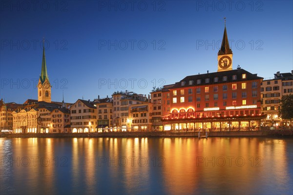
[[[267,114],[263,120],[264,126],[289,125],[279,116],[280,102],[283,95],[293,93],[293,71],[274,74],[273,79],[264,80],[261,84],[262,112]]]

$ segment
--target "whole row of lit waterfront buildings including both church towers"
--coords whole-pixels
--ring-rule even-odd
[[[293,71],[264,80],[240,67],[233,70],[232,57],[225,25],[216,72],[187,76],[147,97],[126,90],[65,103],[51,101],[43,49],[38,100],[19,105],[1,99],[0,129],[14,133],[222,131],[289,125],[280,118],[279,109],[282,96],[293,93]]]

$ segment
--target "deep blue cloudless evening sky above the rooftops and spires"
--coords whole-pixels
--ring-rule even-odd
[[[217,71],[227,18],[233,69],[293,70],[293,1],[0,1],[0,98],[37,99],[42,39],[52,101],[148,94]]]

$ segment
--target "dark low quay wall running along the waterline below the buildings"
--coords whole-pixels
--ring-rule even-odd
[[[201,132],[205,135],[205,132]],[[293,137],[293,130],[211,131],[209,137]],[[198,137],[198,132],[0,133],[1,138]]]

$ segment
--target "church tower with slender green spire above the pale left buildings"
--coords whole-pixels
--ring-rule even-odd
[[[51,103],[51,85],[47,73],[45,48],[43,45],[43,57],[42,57],[42,71],[38,83],[38,101],[44,101]]]

